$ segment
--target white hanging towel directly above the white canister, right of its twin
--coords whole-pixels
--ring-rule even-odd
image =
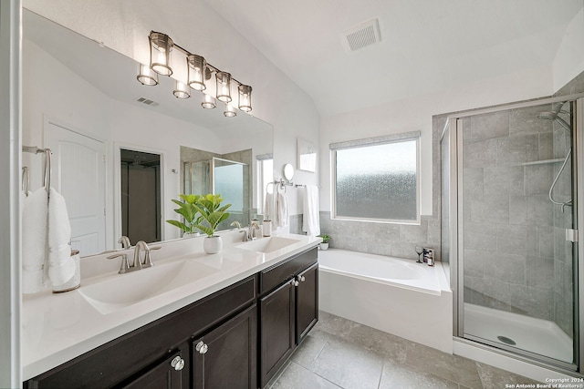
[[[71,225],[65,199],[51,188],[48,198],[48,278],[54,286],[68,282],[75,275],[76,265],[69,241]]]

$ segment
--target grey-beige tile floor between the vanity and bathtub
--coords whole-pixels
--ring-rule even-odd
[[[495,389],[506,384],[537,381],[321,311],[318,324],[267,387]]]

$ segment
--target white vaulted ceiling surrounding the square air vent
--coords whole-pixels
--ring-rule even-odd
[[[584,5],[582,0],[206,2],[304,89],[321,116],[551,67]],[[349,51],[344,32],[373,18],[379,21],[380,43]]]

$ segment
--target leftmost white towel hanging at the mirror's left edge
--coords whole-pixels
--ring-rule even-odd
[[[22,291],[41,291],[47,254],[47,190],[36,189],[22,211]]]

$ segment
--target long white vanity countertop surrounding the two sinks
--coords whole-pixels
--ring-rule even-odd
[[[222,236],[224,248],[217,254],[203,252],[204,237],[164,242],[162,250],[151,251],[154,267],[127,274],[118,274],[120,258],[109,261],[105,259],[107,254],[84,258],[81,259],[82,277],[78,289],[64,293],[44,291],[25,295],[21,321],[23,379],[45,373],[278,261],[316,247],[321,241],[320,238],[304,235],[277,234],[298,242],[267,254],[238,248],[241,234],[236,231],[226,232]],[[129,259],[131,262],[130,255]],[[99,282],[123,280],[120,277],[131,277],[141,272],[141,276],[147,275],[146,271],[157,271],[157,268],[160,270],[164,266],[172,266],[174,262],[187,265],[182,268],[181,286],[172,289],[170,282],[170,288],[164,288],[166,292],[158,292],[141,302],[102,309],[98,302],[91,302],[84,294],[84,287],[85,291],[89,291],[92,285]],[[197,271],[197,267],[200,271]],[[193,282],[189,279],[185,282],[184,277],[190,274]]]

